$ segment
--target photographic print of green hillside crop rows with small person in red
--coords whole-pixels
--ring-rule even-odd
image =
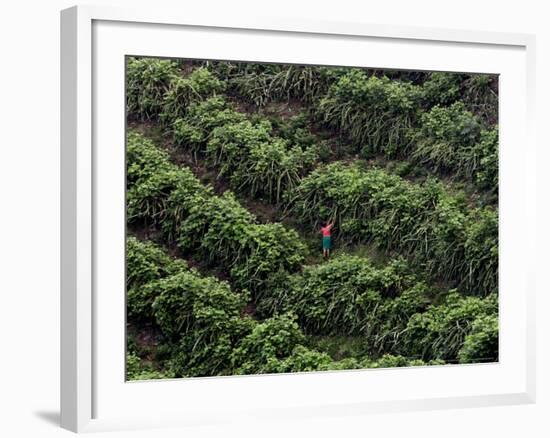
[[[126,58],[128,380],[498,361],[498,75]]]

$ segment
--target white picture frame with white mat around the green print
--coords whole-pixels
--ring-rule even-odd
[[[190,38],[192,47],[185,45]],[[290,17],[228,22],[153,7],[62,11],[62,427],[83,432],[534,402],[534,45],[525,34]],[[366,49],[372,65],[357,55]],[[125,382],[126,55],[500,74],[499,363]],[[514,232],[519,226],[521,236]]]

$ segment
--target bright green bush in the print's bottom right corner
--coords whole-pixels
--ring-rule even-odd
[[[458,352],[460,363],[496,362],[498,360],[498,316],[483,315],[472,324],[464,345]]]

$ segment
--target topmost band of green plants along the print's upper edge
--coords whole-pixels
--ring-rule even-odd
[[[496,193],[498,97],[491,81],[432,73],[414,84],[364,69],[228,63],[206,63],[182,77],[177,62],[136,59],[128,65],[128,110],[170,125],[191,102],[223,93],[259,106],[300,98],[313,120],[365,156],[406,158]]]

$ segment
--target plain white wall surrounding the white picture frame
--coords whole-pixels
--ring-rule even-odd
[[[133,5],[153,2],[96,1]],[[0,435],[69,436],[59,419],[59,10],[72,1],[27,0],[0,9]],[[538,402],[530,406],[254,423],[122,436],[550,436],[548,273],[550,14],[545,2],[155,0],[159,7],[365,21],[537,35],[540,155]],[[521,147],[522,145],[517,145]],[[546,147],[543,147],[546,146]],[[521,230],[518,230],[521,233]]]

